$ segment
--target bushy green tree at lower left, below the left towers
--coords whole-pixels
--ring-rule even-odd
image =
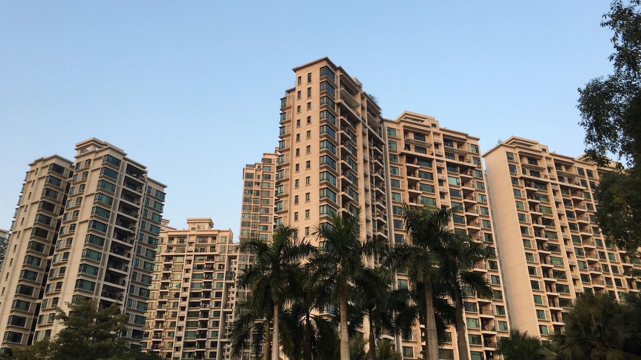
[[[99,309],[96,300],[67,304],[69,314],[56,308],[55,320],[63,329],[52,340],[12,348],[16,360],[160,360],[154,353],[141,353],[121,338],[126,323],[113,304]]]

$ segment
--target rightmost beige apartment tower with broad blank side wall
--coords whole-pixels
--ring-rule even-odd
[[[641,288],[624,275],[641,269],[638,259],[606,242],[595,223],[593,191],[612,168],[517,136],[484,158],[513,327],[547,340],[578,293],[624,300]]]

